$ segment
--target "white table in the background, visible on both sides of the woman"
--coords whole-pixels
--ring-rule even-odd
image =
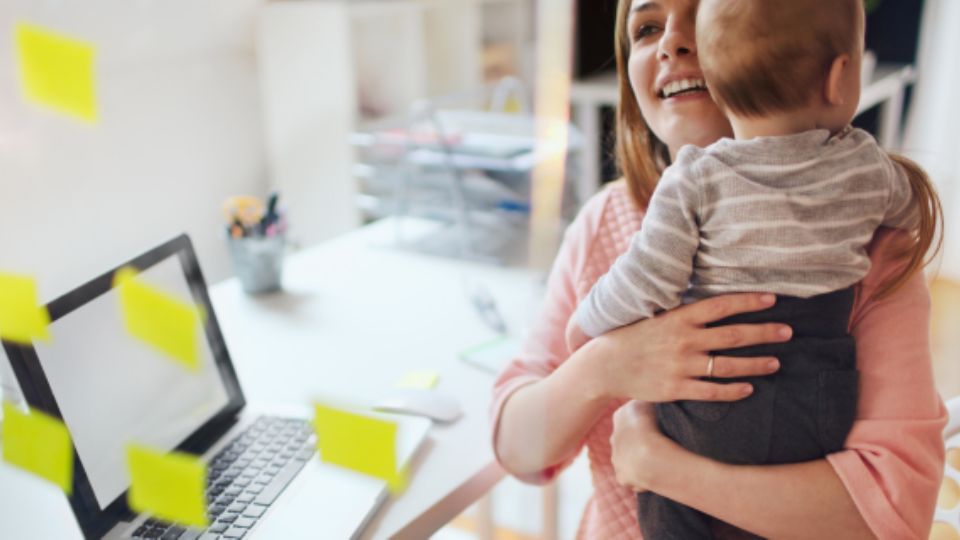
[[[870,78],[870,83],[860,92],[857,114],[880,106],[880,126],[877,138],[884,148],[895,150],[901,142],[903,99],[907,87],[917,79],[911,65],[879,64]],[[577,185],[579,200],[585,201],[600,186],[600,153],[603,136],[600,111],[613,107],[620,101],[616,72],[608,72],[583,80],[574,81],[570,88],[570,103],[574,119],[583,131],[583,172]]]

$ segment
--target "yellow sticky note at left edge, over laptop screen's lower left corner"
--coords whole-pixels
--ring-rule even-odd
[[[3,460],[73,492],[73,444],[60,420],[3,402]]]

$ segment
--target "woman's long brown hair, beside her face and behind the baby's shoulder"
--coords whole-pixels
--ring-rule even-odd
[[[627,64],[631,47],[627,18],[631,3],[631,0],[619,1],[614,31],[620,89],[616,109],[615,152],[630,198],[637,208],[646,209],[661,173],[670,165],[670,153],[667,145],[657,138],[640,114],[640,106],[630,86]],[[880,283],[871,294],[874,300],[892,294],[906,283],[937,255],[943,244],[943,209],[930,177],[919,165],[903,156],[890,154],[890,159],[904,170],[910,180],[918,217],[914,230],[908,231],[908,240],[898,244],[892,253],[892,257],[901,262],[902,269]]]

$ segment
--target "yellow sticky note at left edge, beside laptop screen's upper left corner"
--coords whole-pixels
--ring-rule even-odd
[[[50,339],[50,314],[37,300],[37,284],[27,276],[0,273],[0,338],[29,345]]]

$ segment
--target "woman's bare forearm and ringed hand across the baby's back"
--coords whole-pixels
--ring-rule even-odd
[[[789,339],[781,324],[705,328],[736,313],[766,309],[771,297],[737,294],[710,298],[619,328],[587,343],[549,375],[516,390],[503,405],[494,441],[501,464],[518,476],[542,471],[579,449],[612,406],[624,399],[734,401],[750,395],[746,383],[700,380],[708,351]],[[563,327],[557,329],[561,335]],[[770,374],[770,357],[717,357],[715,377]]]

